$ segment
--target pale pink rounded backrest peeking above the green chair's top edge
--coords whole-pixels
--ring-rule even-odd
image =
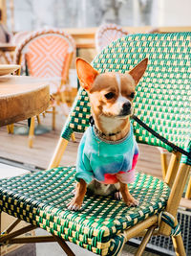
[[[99,53],[111,42],[116,41],[128,32],[116,24],[103,24],[96,31],[96,51]]]

